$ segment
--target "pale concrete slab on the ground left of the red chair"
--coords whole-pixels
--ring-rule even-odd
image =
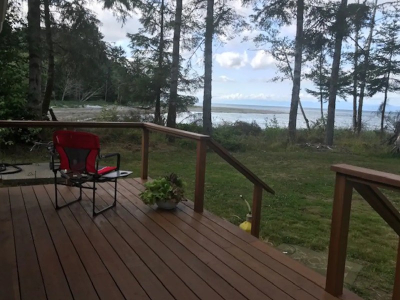
[[[54,180],[54,173],[49,168],[48,162],[39,162],[20,165],[22,171],[15,174],[0,174],[0,183],[6,185],[13,184],[37,184],[51,183]],[[12,168],[9,168],[13,170]]]

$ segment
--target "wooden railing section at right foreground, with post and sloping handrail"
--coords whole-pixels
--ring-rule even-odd
[[[378,187],[400,191],[400,175],[348,164],[331,166],[336,172],[325,290],[334,296],[343,292],[351,196],[354,188],[400,236],[400,213]],[[394,277],[393,300],[400,300],[400,239]]]

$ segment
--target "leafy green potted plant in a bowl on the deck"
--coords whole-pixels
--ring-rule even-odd
[[[144,183],[141,200],[148,205],[157,204],[162,209],[173,209],[184,197],[184,182],[175,173]]]

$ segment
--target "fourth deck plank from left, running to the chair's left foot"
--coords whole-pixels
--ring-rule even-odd
[[[92,282],[76,252],[73,244],[54,209],[43,185],[33,186],[44,221],[47,224],[55,250],[61,262],[65,280],[68,282],[73,298],[77,300],[96,300],[98,296]]]

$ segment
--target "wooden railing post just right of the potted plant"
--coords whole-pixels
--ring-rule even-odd
[[[196,182],[194,187],[194,211],[202,212],[204,204],[205,157],[207,153],[207,140],[197,141]]]

